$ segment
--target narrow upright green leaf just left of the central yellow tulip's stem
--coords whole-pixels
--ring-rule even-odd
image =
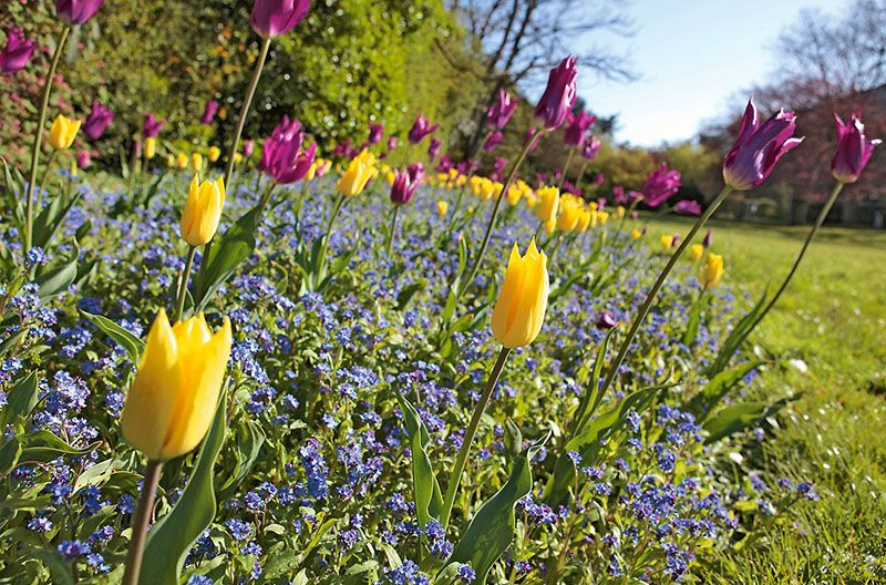
[[[399,393],[396,399],[403,411],[403,422],[412,450],[412,493],[415,497],[415,515],[419,519],[419,525],[424,526],[431,520],[439,519],[440,510],[443,507],[443,494],[426,451],[427,445],[431,444],[431,437],[427,434],[427,429],[419,412],[410,404],[409,400]]]

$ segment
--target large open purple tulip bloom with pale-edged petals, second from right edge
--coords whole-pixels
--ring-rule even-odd
[[[760,124],[754,100],[748,102],[741,130],[732,150],[723,160],[723,178],[735,191],[749,191],[772,173],[785,153],[796,148],[803,138],[794,138],[796,116],[784,110]]]

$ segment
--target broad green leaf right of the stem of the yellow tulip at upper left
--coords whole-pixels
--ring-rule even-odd
[[[220,238],[213,243],[194,278],[193,295],[196,311],[206,308],[218,288],[253,254],[256,247],[255,234],[260,213],[261,204],[244,214]]]

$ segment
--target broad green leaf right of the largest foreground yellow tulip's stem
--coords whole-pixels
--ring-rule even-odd
[[[172,512],[159,519],[147,534],[141,585],[175,585],[188,551],[215,519],[213,468],[225,443],[226,392],[222,392],[215,420],[203,441],[194,471]]]

